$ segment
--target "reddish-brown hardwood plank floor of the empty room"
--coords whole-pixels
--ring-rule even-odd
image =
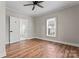
[[[79,47],[41,39],[7,45],[6,52],[6,58],[79,58]]]

